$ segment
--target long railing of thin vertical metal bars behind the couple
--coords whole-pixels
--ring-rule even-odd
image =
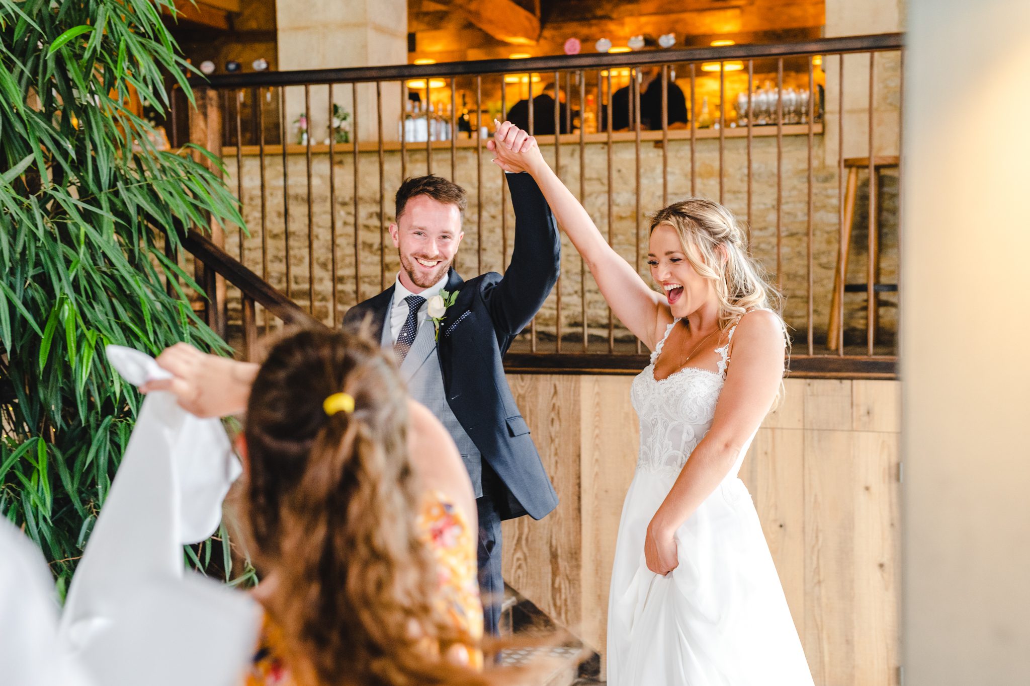
[[[879,319],[882,307],[896,306],[896,285],[883,283],[881,272],[886,266],[897,282],[899,185],[893,170],[899,166],[901,49],[902,36],[889,34],[230,74],[212,77],[210,90],[199,87],[201,102],[211,106],[191,110],[188,128],[191,139],[203,132],[201,142],[224,156],[249,217],[248,233],[215,228],[213,245],[238,255],[314,318],[335,325],[347,307],[393,279],[387,208],[407,176],[435,172],[465,185],[466,241],[475,249],[470,255],[462,247],[457,267],[467,277],[503,271],[513,215],[503,172],[489,169],[479,134],[484,127],[492,130],[491,114],[507,112],[518,96],[526,101],[527,128],[538,134],[545,156],[645,278],[646,213],[687,195],[707,195],[746,220],[753,253],[787,296],[795,375],[892,377],[896,318],[886,325]],[[654,97],[644,89],[645,71],[654,72],[660,84],[660,123],[642,110],[642,97]],[[762,80],[769,88],[756,90]],[[544,97],[545,81],[556,97],[548,96],[553,106],[547,105],[542,122],[535,104]],[[620,83],[623,89],[613,90]],[[686,100],[686,124],[670,123],[674,89]],[[428,107],[419,112],[426,135],[421,140],[419,127],[420,140],[412,141],[416,129],[404,122],[410,94],[424,92],[432,102],[432,91],[440,94],[445,113]],[[335,99],[347,96],[346,142],[338,141],[335,127],[327,142],[315,141],[312,96],[320,98],[319,92],[327,96],[322,112],[329,123],[338,114]],[[460,114],[459,96],[467,103]],[[709,97],[718,102],[706,114]],[[628,128],[616,131],[623,106]],[[650,107],[653,112],[655,103]],[[290,143],[287,127],[291,109],[306,125],[295,132],[297,143]],[[180,103],[179,115],[182,110]],[[859,172],[867,175],[864,185]],[[863,232],[865,240],[853,245],[853,234],[861,239]],[[848,264],[855,266],[849,255],[863,249],[859,277],[865,283],[849,284]],[[856,289],[859,295],[849,300],[846,294]],[[245,318],[241,303],[248,298],[252,302],[253,294],[230,286],[228,321]],[[266,330],[273,325],[267,315],[264,321]],[[565,241],[560,280],[506,362],[513,371],[622,372],[643,368],[644,353],[614,320]]]

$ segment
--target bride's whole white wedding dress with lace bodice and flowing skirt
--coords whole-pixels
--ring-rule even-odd
[[[655,379],[654,363],[674,325],[632,384],[641,447],[612,570],[608,684],[811,686],[758,514],[736,477],[751,439],[677,530],[679,567],[659,577],[645,563],[648,523],[711,427],[729,364],[727,340],[717,350],[718,373],[686,368]]]

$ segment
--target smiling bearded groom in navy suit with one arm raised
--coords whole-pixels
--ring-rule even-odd
[[[432,174],[409,178],[397,192],[389,226],[401,256],[397,280],[344,316],[345,327],[371,320],[372,335],[393,349],[411,396],[457,444],[479,511],[479,586],[489,633],[497,632],[504,598],[501,521],[540,519],[558,504],[502,357],[554,286],[560,241],[533,177],[505,176],[515,245],[504,276],[461,280],[451,265],[464,236],[465,190]]]

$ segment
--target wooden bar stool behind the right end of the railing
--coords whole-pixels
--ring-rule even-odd
[[[840,238],[840,249],[837,250],[836,271],[833,273],[833,300],[830,304],[830,321],[826,330],[826,347],[830,350],[836,350],[837,341],[840,338],[840,328],[844,325],[842,321],[844,303],[842,302],[840,281],[848,276],[848,256],[851,251],[851,225],[855,218],[855,201],[858,196],[858,172],[861,169],[869,168],[869,158],[848,158],[844,161],[844,166],[848,169],[848,183],[844,194],[844,235]],[[898,289],[896,283],[876,282],[880,275],[880,202],[877,195],[880,188],[880,173],[884,169],[897,169],[897,157],[883,156],[873,158],[872,160],[874,173],[869,179],[869,195],[874,199],[877,208],[876,231],[872,237],[874,249],[869,253],[869,260],[872,261],[871,272],[873,274],[873,295],[870,308],[873,313],[873,319],[877,317],[879,308],[876,295],[879,293],[896,293]],[[843,290],[846,293],[868,293],[869,284],[846,282]]]

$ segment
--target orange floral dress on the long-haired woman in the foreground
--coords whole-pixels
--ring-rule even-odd
[[[476,535],[459,508],[443,493],[427,496],[418,515],[422,541],[433,552],[440,580],[439,610],[452,622],[461,638],[459,649],[468,653],[469,664],[482,668],[483,655],[476,646],[483,638],[483,606],[479,598]],[[297,686],[283,660],[284,641],[278,626],[265,616],[261,639],[243,686]],[[441,652],[453,654],[451,646]]]

